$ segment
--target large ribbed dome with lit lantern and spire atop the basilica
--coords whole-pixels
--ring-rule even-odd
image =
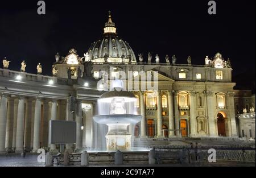
[[[129,43],[117,35],[111,15],[105,24],[103,37],[92,43],[88,55],[92,63],[136,63],[136,57]]]

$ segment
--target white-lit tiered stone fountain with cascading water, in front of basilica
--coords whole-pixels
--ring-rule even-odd
[[[121,86],[115,86],[112,91],[102,94],[98,99],[100,111],[93,117],[95,122],[108,126],[105,135],[107,151],[130,151],[132,135],[127,127],[142,119],[134,107],[137,98],[133,93],[121,89]]]

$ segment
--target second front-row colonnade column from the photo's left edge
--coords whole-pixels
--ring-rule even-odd
[[[16,130],[16,150],[15,152],[23,151],[24,140],[24,113],[25,112],[25,99],[19,98],[18,116],[17,116],[17,130]]]

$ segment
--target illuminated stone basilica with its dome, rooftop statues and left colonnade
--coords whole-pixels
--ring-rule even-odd
[[[119,38],[109,15],[101,39],[84,56],[71,49],[59,53],[52,77],[12,71],[8,59],[0,68],[0,152],[36,152],[49,144],[49,120],[76,121],[75,148],[97,147],[100,130],[93,121],[97,99],[115,78],[137,98],[135,107],[143,116],[127,128],[134,139],[142,138],[237,138],[234,86],[229,59],[221,53],[206,56],[202,65],[177,63],[176,56],[135,56],[129,43]],[[20,61],[21,62],[21,61]],[[148,77],[149,76],[149,77]],[[254,119],[255,120],[255,119]],[[255,124],[255,122],[254,122]],[[134,128],[134,129],[130,129]],[[101,133],[102,134],[102,133]],[[104,135],[105,133],[103,133]],[[72,147],[72,146],[71,146]]]

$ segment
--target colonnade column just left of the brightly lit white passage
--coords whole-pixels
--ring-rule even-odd
[[[76,149],[82,147],[82,101],[77,100],[76,103]]]

